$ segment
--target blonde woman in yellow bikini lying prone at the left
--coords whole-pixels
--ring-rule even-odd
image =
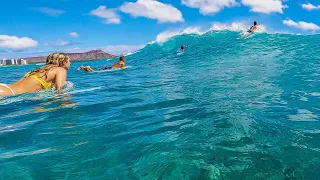
[[[60,91],[67,81],[70,58],[65,53],[53,53],[47,57],[46,65],[32,70],[13,84],[0,83],[0,96],[11,96],[36,92],[55,87]]]

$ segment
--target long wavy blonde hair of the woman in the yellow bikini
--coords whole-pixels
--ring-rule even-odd
[[[40,74],[40,73],[44,73],[43,76],[48,75],[48,72],[55,67],[65,67],[65,64],[67,63],[67,59],[69,58],[68,54],[66,53],[52,53],[49,54],[49,56],[47,57],[46,60],[46,65],[42,66],[41,68],[32,70],[29,75],[34,75],[34,74]],[[41,77],[43,77],[41,76]]]

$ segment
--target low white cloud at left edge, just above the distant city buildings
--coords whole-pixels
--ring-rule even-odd
[[[8,35],[0,35],[0,47],[11,50],[24,50],[33,48],[38,42],[28,37],[16,37]]]

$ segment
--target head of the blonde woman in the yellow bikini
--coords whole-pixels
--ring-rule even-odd
[[[70,57],[66,53],[52,53],[47,57],[47,65],[56,65],[66,70],[70,68]]]

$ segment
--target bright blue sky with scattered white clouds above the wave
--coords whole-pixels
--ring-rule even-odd
[[[10,0],[1,2],[0,59],[135,51],[163,35],[215,24],[320,32],[319,0]]]

